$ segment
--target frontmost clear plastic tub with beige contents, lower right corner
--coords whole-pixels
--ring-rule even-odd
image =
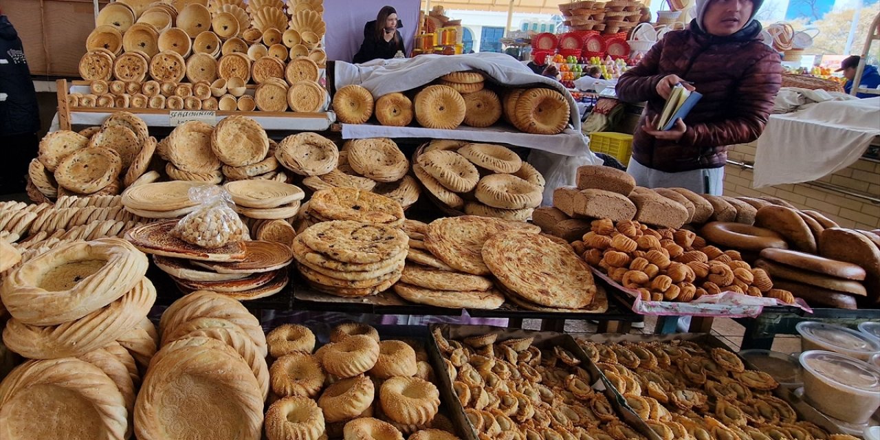
[[[803,395],[819,411],[864,424],[880,407],[880,373],[868,363],[824,350],[801,354]]]

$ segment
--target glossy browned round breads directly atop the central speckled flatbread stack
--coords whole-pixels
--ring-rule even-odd
[[[403,207],[400,203],[362,189],[333,187],[312,194],[297,219],[297,231],[312,224],[332,220],[351,220],[361,223],[400,227]]]

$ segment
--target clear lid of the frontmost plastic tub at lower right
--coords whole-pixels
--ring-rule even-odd
[[[880,391],[880,373],[868,363],[832,351],[810,350],[801,354],[801,365],[818,378],[855,392]]]

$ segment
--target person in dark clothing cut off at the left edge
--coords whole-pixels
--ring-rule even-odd
[[[0,9],[0,194],[25,192],[27,165],[37,156],[40,109],[15,27]]]

